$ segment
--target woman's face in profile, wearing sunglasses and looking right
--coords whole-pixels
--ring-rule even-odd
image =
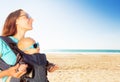
[[[16,20],[17,28],[25,31],[32,30],[33,19],[24,11],[21,11],[20,16]]]

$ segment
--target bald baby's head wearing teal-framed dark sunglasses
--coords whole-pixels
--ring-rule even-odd
[[[36,43],[35,40],[30,37],[22,38],[19,40],[17,46],[26,54],[39,53],[40,51],[39,43]]]

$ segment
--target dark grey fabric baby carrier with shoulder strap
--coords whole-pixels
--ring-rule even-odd
[[[15,42],[13,42],[9,37],[0,36],[7,45],[13,50],[17,56],[17,63],[28,64],[27,73],[23,75],[20,79],[12,77],[10,82],[49,82],[47,79],[47,64],[45,54],[36,53],[33,55],[28,55],[18,49]],[[6,64],[0,58],[0,69],[6,70],[10,65]]]

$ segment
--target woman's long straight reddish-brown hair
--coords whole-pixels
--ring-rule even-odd
[[[17,32],[16,19],[20,16],[22,9],[16,10],[8,15],[2,30],[2,36],[13,36]]]

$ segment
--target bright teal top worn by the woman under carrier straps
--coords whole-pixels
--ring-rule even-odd
[[[12,36],[9,36],[14,42],[18,43],[18,40]],[[0,57],[9,65],[15,65],[16,55],[11,48],[0,38]],[[2,82],[6,82],[8,77],[3,77]]]

